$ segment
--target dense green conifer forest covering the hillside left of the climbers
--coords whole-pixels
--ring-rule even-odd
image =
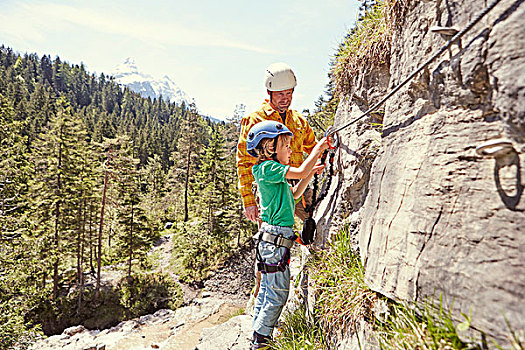
[[[212,122],[195,105],[140,97],[82,64],[2,46],[3,345],[31,329],[100,323],[102,304],[132,317],[180,303],[173,280],[147,273],[162,230],[177,233],[174,258],[192,283],[243,244],[253,227],[236,185],[240,117]],[[101,289],[101,269],[115,264],[126,278]]]

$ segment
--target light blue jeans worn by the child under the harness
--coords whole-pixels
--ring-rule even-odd
[[[261,231],[280,234],[286,238],[294,235],[291,227],[261,225]],[[272,243],[259,242],[257,258],[262,258],[267,264],[276,264],[283,259],[287,248],[278,247]],[[286,266],[283,272],[263,273],[259,294],[255,300],[252,328],[261,335],[271,336],[273,327],[283,310],[290,291],[290,267]]]

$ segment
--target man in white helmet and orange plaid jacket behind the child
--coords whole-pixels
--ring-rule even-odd
[[[315,135],[308,121],[297,111],[291,110],[292,97],[297,79],[292,69],[286,63],[273,63],[267,69],[264,85],[269,95],[261,107],[241,121],[241,133],[237,144],[237,174],[239,191],[244,205],[244,215],[253,222],[258,222],[259,209],[252,192],[252,167],[257,159],[246,151],[246,139],[252,126],[263,120],[275,120],[283,123],[293,133],[291,143],[292,156],[290,165],[299,167],[303,163],[303,152],[310,154],[316,145]],[[311,203],[312,192],[304,194],[305,200],[297,203],[295,214],[304,220],[308,213],[305,204]]]

